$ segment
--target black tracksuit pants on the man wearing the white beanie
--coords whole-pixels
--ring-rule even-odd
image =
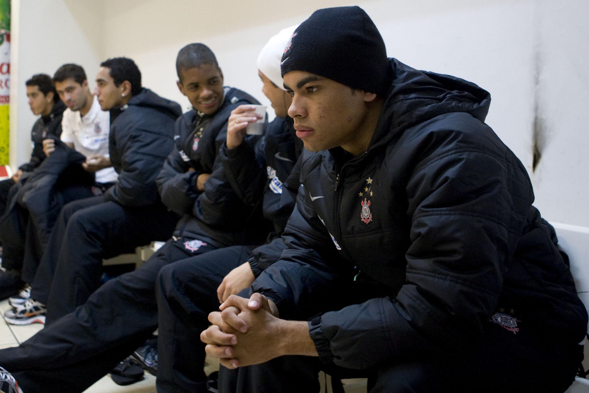
[[[217,288],[224,276],[246,262],[253,249],[225,247],[161,269],[157,278],[158,393],[207,392],[200,333],[210,325],[209,313],[219,311]]]

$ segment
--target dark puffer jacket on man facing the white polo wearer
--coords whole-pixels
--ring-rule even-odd
[[[111,110],[108,152],[118,179],[106,200],[130,207],[160,201],[155,178],[174,146],[174,122],[181,114],[180,105],[146,88]]]

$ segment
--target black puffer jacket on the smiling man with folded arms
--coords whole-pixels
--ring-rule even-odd
[[[219,158],[227,138],[227,120],[242,104],[258,104],[251,95],[224,88],[224,100],[213,115],[189,111],[176,121],[174,148],[157,177],[161,200],[183,217],[174,236],[199,239],[215,247],[263,242],[266,224],[260,206],[247,206],[231,188]],[[193,169],[193,170],[191,170]],[[196,187],[199,174],[211,176],[205,190]]]

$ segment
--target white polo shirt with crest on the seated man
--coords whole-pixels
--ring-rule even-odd
[[[73,143],[74,148],[86,157],[100,154],[108,156],[108,133],[110,132],[110,113],[103,111],[94,96],[92,107],[84,117],[80,111],[67,108],[61,120],[61,139]],[[118,174],[113,167],[97,171],[97,183],[110,183],[117,180]]]

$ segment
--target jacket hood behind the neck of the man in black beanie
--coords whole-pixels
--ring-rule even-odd
[[[446,113],[466,112],[485,121],[491,104],[488,91],[451,75],[415,70],[394,58],[389,65],[391,87],[370,146],[387,143],[399,131]]]

